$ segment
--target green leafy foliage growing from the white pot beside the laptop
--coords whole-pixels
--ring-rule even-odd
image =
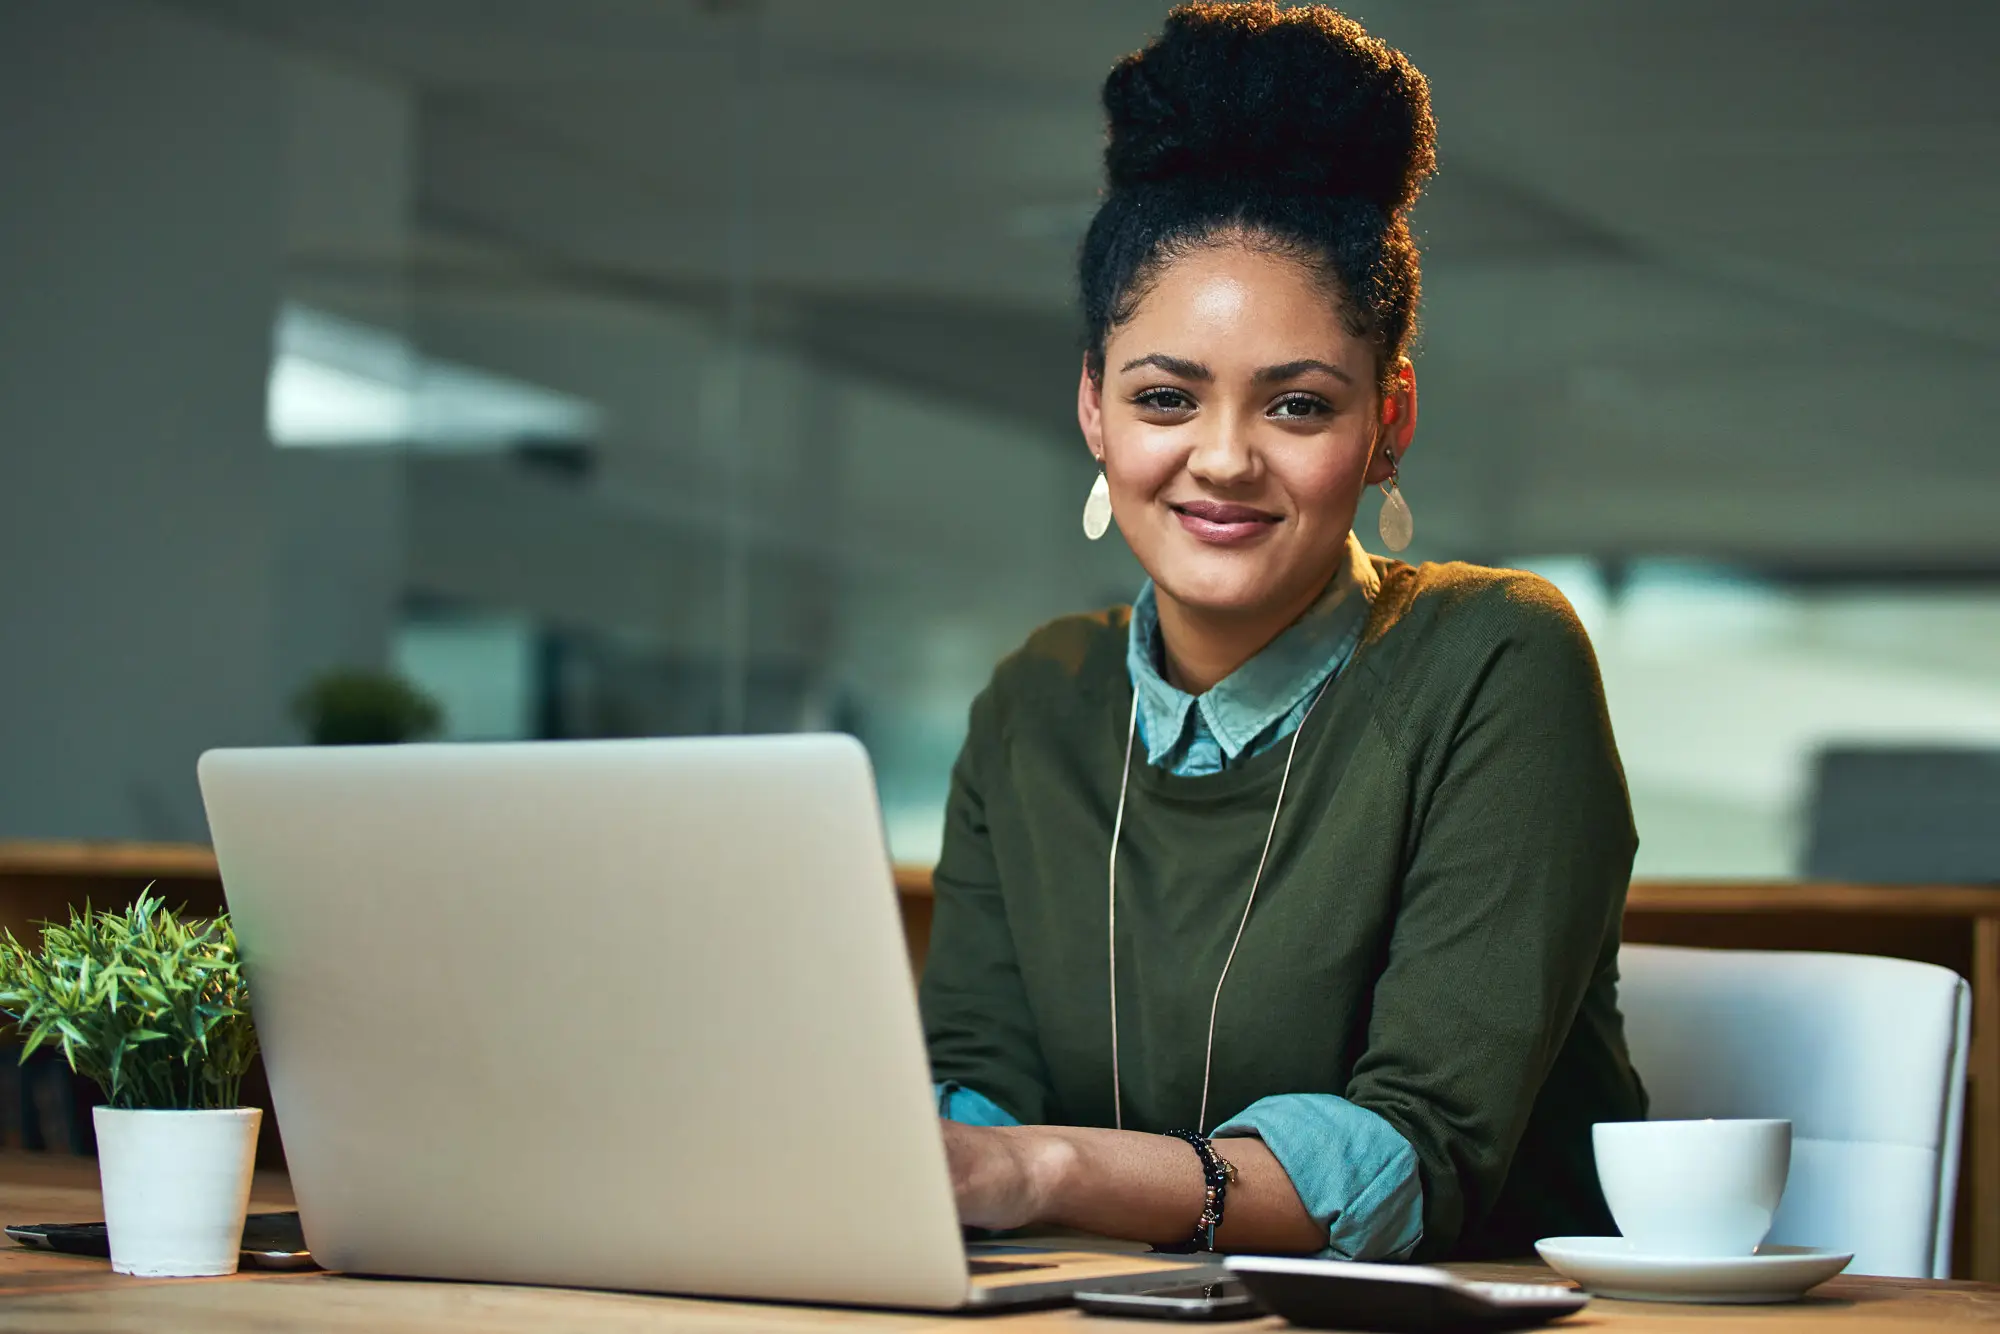
[[[184,920],[150,888],[126,912],[72,908],[40,950],[0,932],[0,1012],[22,1062],[60,1048],[114,1108],[234,1108],[258,1050],[228,914]]]

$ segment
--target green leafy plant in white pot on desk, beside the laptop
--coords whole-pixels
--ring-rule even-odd
[[[126,912],[44,924],[40,950],[0,932],[0,1012],[22,1060],[60,1046],[104,1090],[112,1268],[234,1274],[264,1112],[236,1106],[256,1030],[228,914],[182,920],[148,886]]]

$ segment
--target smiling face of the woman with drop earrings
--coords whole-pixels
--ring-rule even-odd
[[[1112,514],[1164,598],[1206,614],[1298,614],[1326,586],[1376,450],[1408,446],[1416,386],[1296,262],[1220,242],[1174,260],[1104,346],[1078,420]],[[1286,616],[1290,618],[1290,616]]]

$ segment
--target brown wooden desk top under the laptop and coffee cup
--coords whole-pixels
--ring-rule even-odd
[[[252,1208],[286,1208],[282,1178],[260,1174]],[[94,1164],[76,1158],[34,1162],[0,1156],[0,1224],[98,1218]],[[1452,1266],[1470,1278],[1552,1280],[1538,1264]],[[2000,1286],[1916,1282],[1900,1278],[1836,1278],[1796,1306],[1664,1306],[1594,1302],[1556,1330],[1868,1330],[1916,1334],[1938,1324],[2000,1328]],[[106,1260],[52,1256],[0,1242],[0,1330],[36,1334],[200,1330],[328,1330],[336,1334],[528,1334],[540,1330],[672,1332],[672,1334],[942,1334],[990,1330],[1008,1334],[1142,1334],[1164,1326],[1102,1322],[1074,1310],[1020,1316],[926,1316],[752,1302],[702,1302],[630,1292],[508,1288],[416,1280],[344,1278],[338,1274],[238,1274],[236,1278],[124,1278]],[[1266,1332],[1278,1320],[1232,1326]]]

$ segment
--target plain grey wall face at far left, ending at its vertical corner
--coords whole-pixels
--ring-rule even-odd
[[[282,82],[148,8],[0,6],[0,836],[194,838],[270,740]]]

